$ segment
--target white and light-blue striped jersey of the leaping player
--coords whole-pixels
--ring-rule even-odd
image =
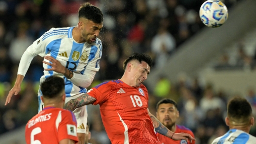
[[[99,71],[99,61],[102,55],[101,41],[96,38],[96,41],[91,44],[77,43],[72,36],[73,28],[52,28],[37,39],[29,49],[41,57],[51,56],[57,59],[64,67],[74,73],[83,74],[85,68]],[[47,59],[44,61],[48,62]],[[51,68],[45,63],[43,63],[43,67],[44,69]],[[64,78],[66,97],[87,91],[85,87],[74,85],[62,73],[54,71],[44,71],[40,83],[50,75],[59,75]]]

